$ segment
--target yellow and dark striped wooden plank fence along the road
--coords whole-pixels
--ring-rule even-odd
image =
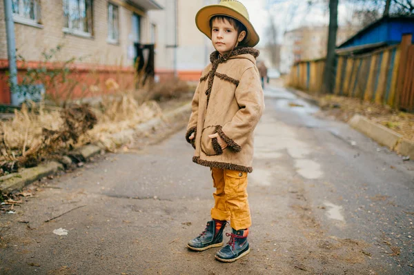
[[[401,61],[401,62],[400,62]],[[315,94],[322,91],[324,59],[295,63],[288,85]],[[340,55],[334,94],[414,111],[414,45],[411,35],[400,45],[358,56]]]

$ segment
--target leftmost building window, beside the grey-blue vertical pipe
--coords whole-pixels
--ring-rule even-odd
[[[18,23],[38,25],[40,23],[39,0],[12,0],[13,19]]]

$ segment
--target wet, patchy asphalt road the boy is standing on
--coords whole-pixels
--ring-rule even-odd
[[[181,130],[40,183],[0,216],[0,274],[414,274],[414,161],[283,88],[266,89],[255,136],[241,260],[186,249],[213,184]]]

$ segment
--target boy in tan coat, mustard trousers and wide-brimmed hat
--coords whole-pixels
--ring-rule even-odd
[[[264,110],[256,67],[259,51],[251,48],[259,36],[246,8],[235,0],[201,8],[195,21],[216,51],[195,91],[186,140],[195,148],[193,162],[210,167],[217,190],[212,221],[187,246],[203,251],[223,245],[223,230],[230,220],[230,241],[215,258],[233,262],[250,252],[247,173],[253,170],[253,130]]]

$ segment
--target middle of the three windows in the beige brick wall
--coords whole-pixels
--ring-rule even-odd
[[[63,0],[65,32],[92,36],[92,0]]]

